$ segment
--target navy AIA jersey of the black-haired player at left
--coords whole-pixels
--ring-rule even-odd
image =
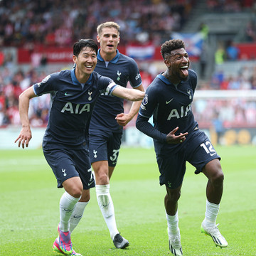
[[[108,85],[113,85],[111,90],[107,90]],[[110,78],[94,71],[82,86],[75,69],[53,73],[33,85],[38,96],[50,93],[50,116],[43,141],[84,147],[97,97],[107,91],[111,95],[113,89]]]

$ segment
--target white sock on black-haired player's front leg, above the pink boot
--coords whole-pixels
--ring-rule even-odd
[[[75,209],[75,204],[78,203],[80,198],[74,198],[65,191],[60,198],[60,225],[59,228],[63,232],[67,232],[70,228],[70,216]]]

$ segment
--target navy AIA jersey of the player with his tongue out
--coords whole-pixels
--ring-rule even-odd
[[[178,85],[172,84],[163,75],[157,75],[146,89],[144,100],[139,109],[142,117],[153,115],[155,129],[163,134],[169,134],[178,127],[177,134],[191,132],[198,126],[193,117],[191,103],[196,89],[197,76],[193,70],[188,70],[188,79]],[[158,142],[154,140],[156,144]],[[177,146],[177,144],[168,144]]]

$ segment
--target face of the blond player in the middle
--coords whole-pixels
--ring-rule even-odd
[[[117,46],[120,41],[119,32],[116,28],[102,28],[101,33],[97,36],[97,41],[100,43],[100,55],[104,60],[112,60],[117,54]]]

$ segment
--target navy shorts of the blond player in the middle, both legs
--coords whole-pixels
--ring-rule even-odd
[[[90,161],[108,161],[109,166],[116,166],[119,149],[121,146],[121,132],[107,132],[98,130],[90,132]]]

